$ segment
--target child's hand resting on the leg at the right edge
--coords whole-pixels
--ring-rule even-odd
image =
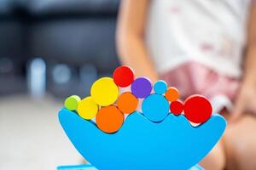
[[[251,80],[242,83],[240,92],[236,97],[231,120],[236,120],[245,112],[256,115],[256,84]]]

